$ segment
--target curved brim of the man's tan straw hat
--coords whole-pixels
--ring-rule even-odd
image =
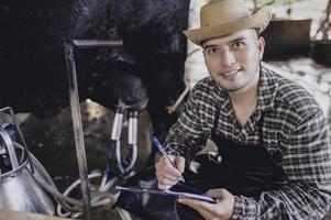
[[[201,29],[185,30],[184,34],[195,44],[201,45],[201,42],[225,36],[244,29],[257,29],[262,33],[272,20],[272,9],[265,6],[249,18],[238,22],[206,26]]]

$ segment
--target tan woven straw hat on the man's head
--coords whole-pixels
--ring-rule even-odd
[[[200,29],[184,31],[195,44],[229,35],[244,29],[257,29],[262,33],[272,20],[271,7],[252,13],[245,0],[218,0],[206,4],[200,11]]]

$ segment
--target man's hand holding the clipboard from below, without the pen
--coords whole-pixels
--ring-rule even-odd
[[[178,202],[196,209],[207,220],[229,220],[234,207],[233,195],[223,188],[210,189],[206,195],[216,198],[217,204],[188,198],[179,198]]]

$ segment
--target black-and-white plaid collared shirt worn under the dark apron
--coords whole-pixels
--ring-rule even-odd
[[[256,127],[263,113],[263,145],[269,153],[282,150],[289,182],[258,199],[234,196],[232,219],[321,219],[331,201],[331,148],[323,112],[295,81],[263,66],[260,73],[257,106],[244,128],[235,121],[227,91],[208,77],[192,89],[167,135],[166,151],[192,160],[211,136],[217,107],[218,133],[238,143],[260,144]]]

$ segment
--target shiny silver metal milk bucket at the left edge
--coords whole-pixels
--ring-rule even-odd
[[[53,216],[54,205],[33,176],[27,148],[13,142],[2,124],[0,152],[0,209]]]

